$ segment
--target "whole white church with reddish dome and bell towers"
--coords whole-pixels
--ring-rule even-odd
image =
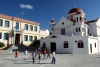
[[[100,18],[86,21],[84,11],[73,8],[58,23],[51,20],[50,35],[40,41],[40,46],[64,54],[99,53]]]

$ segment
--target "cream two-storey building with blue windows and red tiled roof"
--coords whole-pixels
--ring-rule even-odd
[[[33,40],[41,39],[40,32],[38,22],[0,14],[0,41],[5,44],[5,47],[22,42],[29,46]],[[49,35],[48,32],[44,37]]]

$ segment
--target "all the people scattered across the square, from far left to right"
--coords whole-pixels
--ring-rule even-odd
[[[10,54],[12,53],[12,51],[11,51],[11,48],[10,48]],[[43,60],[45,60],[45,59],[47,59],[47,58],[51,58],[50,57],[50,54],[51,54],[51,52],[50,52],[50,49],[35,49],[32,53],[31,53],[31,55],[30,55],[30,58],[32,58],[32,60],[33,60],[33,63],[35,63],[35,60],[38,58],[39,59],[39,62],[40,62],[40,60],[41,60],[41,58],[43,57]],[[55,61],[56,61],[56,54],[55,54],[55,51],[53,51],[52,52],[52,61],[51,61],[51,63],[53,64],[55,64]],[[18,59],[18,50],[16,50],[16,52],[15,52],[15,60],[16,59]],[[24,51],[24,60],[27,60],[28,59],[28,49],[26,49],[25,51]]]

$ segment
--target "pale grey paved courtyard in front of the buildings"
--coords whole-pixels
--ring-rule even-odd
[[[14,52],[0,51],[0,67],[100,67],[100,54],[57,54],[56,64],[51,59],[39,60],[32,64],[31,58],[23,60],[23,53],[19,52],[19,59],[14,60]],[[29,53],[30,56],[30,53]]]

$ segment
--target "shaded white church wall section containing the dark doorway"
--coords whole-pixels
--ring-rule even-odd
[[[52,36],[52,35],[51,35]],[[65,36],[65,35],[55,35],[58,38],[51,38],[51,36],[41,40],[41,47],[43,46],[43,42],[46,43],[46,47],[50,49],[50,43],[55,42],[56,43],[56,52],[57,53],[73,53],[73,42],[72,38]],[[68,48],[64,48],[64,41],[68,42]]]

